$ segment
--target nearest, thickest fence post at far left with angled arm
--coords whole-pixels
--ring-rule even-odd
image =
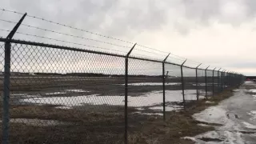
[[[14,37],[14,34],[18,30],[18,27],[21,25],[23,19],[26,17],[26,13],[23,14],[22,18],[14,26],[13,30],[10,31],[10,34],[6,37],[5,42],[5,71],[4,71],[4,82],[3,82],[3,115],[2,115],[2,143],[9,143],[9,121],[10,121],[10,49],[11,44],[8,40],[11,40]]]

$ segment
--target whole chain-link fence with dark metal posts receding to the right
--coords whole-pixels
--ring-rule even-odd
[[[17,30],[18,27],[16,27]],[[242,74],[0,38],[3,143],[134,143],[152,118],[194,106]],[[135,45],[134,45],[135,46]]]

